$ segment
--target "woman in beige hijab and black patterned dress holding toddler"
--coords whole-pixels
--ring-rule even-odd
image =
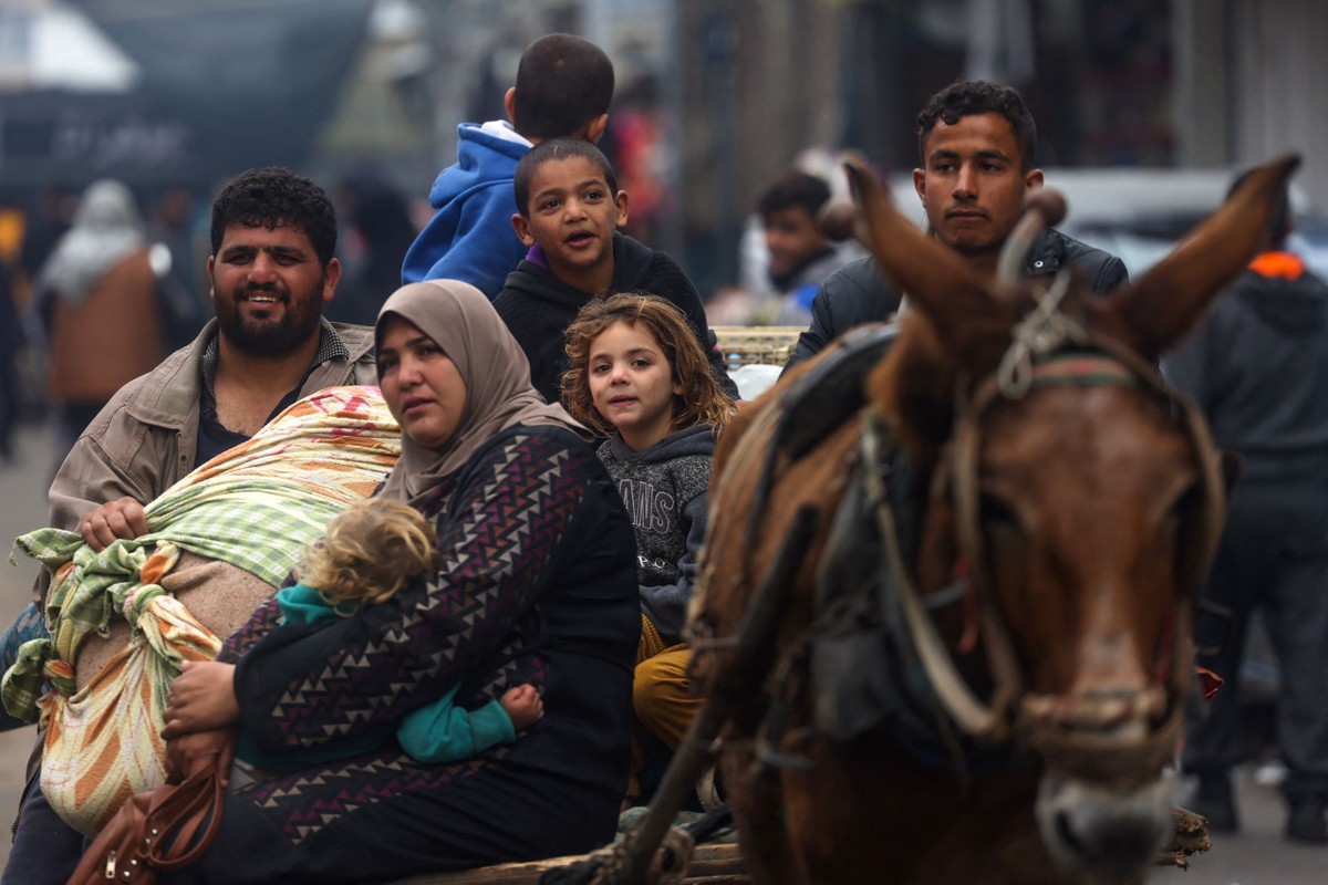
[[[377,324],[402,456],[381,495],[433,521],[437,569],[320,630],[255,613],[177,679],[166,734],[189,770],[243,722],[270,752],[390,730],[461,682],[475,707],[535,683],[511,746],[428,766],[393,740],[227,796],[220,833],[167,882],[372,882],[582,853],[614,836],[640,629],[636,544],[582,427],[478,289],[406,285]],[[243,857],[243,862],[236,862]]]

